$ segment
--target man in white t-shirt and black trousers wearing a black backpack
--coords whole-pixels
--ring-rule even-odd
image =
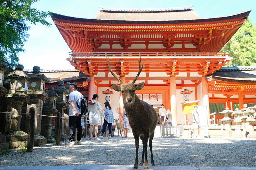
[[[68,113],[70,137],[66,145],[81,144],[81,136],[83,133],[83,129],[81,125],[81,109],[79,109],[76,106],[76,101],[80,98],[83,98],[83,95],[77,91],[76,83],[71,83],[69,90],[71,92],[69,93],[69,113]],[[79,106],[81,106],[81,101],[82,100],[78,100]],[[76,137],[77,140],[74,142],[76,129],[77,129],[77,137]]]

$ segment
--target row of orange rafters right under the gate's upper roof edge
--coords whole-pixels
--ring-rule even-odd
[[[67,26],[67,29],[76,31],[97,31],[97,32],[173,32],[173,31],[199,31],[232,28],[237,24],[242,24],[245,19],[234,19],[228,21],[217,21],[208,23],[182,23],[182,24],[101,24],[101,23],[83,23],[76,24],[71,22],[54,21],[54,24]]]

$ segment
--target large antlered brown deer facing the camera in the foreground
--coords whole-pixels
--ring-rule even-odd
[[[157,124],[157,114],[156,110],[149,105],[148,103],[139,99],[136,95],[136,90],[141,90],[145,83],[139,83],[135,85],[135,81],[140,75],[142,71],[143,64],[141,62],[141,55],[139,61],[139,72],[137,76],[134,78],[132,83],[124,83],[119,77],[117,77],[110,68],[109,57],[107,57],[108,61],[108,68],[111,74],[119,81],[121,85],[112,84],[111,86],[114,88],[115,91],[121,92],[123,96],[123,103],[124,109],[127,113],[127,117],[132,128],[132,134],[135,140],[135,147],[136,147],[136,156],[135,156],[135,163],[133,169],[137,169],[139,162],[138,162],[138,151],[139,151],[139,140],[141,139],[143,144],[142,150],[142,158],[140,162],[140,166],[144,163],[144,169],[148,169],[148,158],[147,158],[147,148],[148,148],[148,138],[149,138],[149,148],[151,153],[151,166],[155,166],[155,162],[153,159],[153,152],[152,152],[152,140],[154,138],[156,124]],[[144,160],[145,156],[145,160]]]

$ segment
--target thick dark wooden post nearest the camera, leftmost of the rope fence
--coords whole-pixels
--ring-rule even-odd
[[[36,108],[30,107],[28,114],[28,147],[27,152],[33,152],[35,139],[35,115]]]

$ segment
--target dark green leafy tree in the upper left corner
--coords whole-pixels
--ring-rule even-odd
[[[24,52],[23,42],[26,42],[30,27],[41,23],[51,26],[45,18],[50,13],[31,8],[31,4],[38,0],[0,0],[0,58],[6,61],[9,67],[19,62],[19,52]]]

